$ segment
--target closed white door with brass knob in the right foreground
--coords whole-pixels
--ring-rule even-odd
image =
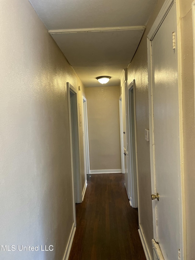
[[[172,44],[172,33],[176,33],[174,8],[175,4],[151,41],[153,191],[159,194],[159,201],[155,199],[152,203],[153,212],[154,207],[157,212],[155,240],[164,257],[155,259],[165,260],[180,259],[182,251],[177,49]]]

